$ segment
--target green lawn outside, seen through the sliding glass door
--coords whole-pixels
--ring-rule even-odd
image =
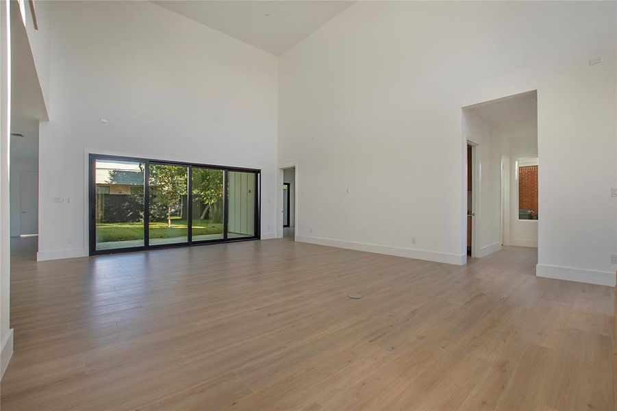
[[[174,238],[187,234],[186,220],[172,220],[171,227],[166,222],[150,223],[150,238]],[[223,234],[223,223],[210,223],[209,220],[193,220],[193,236],[203,234]],[[97,223],[97,242],[141,240],[144,238],[143,223]]]

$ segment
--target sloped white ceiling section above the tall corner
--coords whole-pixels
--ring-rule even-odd
[[[153,1],[163,8],[280,55],[354,1]]]

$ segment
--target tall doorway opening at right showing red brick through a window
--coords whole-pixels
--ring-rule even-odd
[[[466,145],[466,254],[538,247],[536,90],[462,110]]]

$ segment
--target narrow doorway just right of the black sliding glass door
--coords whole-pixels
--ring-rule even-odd
[[[277,238],[295,239],[297,192],[296,166],[279,166]]]

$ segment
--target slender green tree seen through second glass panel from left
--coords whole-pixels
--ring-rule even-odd
[[[166,207],[167,227],[171,227],[171,214],[187,192],[187,169],[182,166],[150,164],[150,193]]]

